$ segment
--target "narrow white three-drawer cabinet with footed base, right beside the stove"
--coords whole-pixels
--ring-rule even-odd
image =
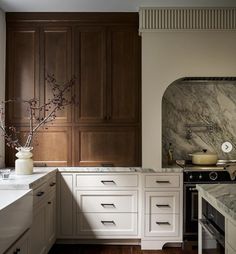
[[[177,173],[144,175],[142,249],[182,242],[182,181]]]

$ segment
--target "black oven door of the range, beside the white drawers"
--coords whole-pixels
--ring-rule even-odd
[[[196,184],[184,184],[184,238],[197,240],[198,191]]]

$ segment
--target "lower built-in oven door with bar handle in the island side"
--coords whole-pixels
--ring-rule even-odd
[[[200,237],[202,254],[225,254],[225,238],[209,220],[199,220],[202,235]]]

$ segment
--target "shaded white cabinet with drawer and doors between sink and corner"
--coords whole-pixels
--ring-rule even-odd
[[[30,253],[46,254],[56,240],[56,179],[53,177],[34,190]]]

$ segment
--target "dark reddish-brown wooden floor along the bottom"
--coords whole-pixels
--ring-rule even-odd
[[[142,251],[140,246],[56,244],[49,254],[197,254],[197,251],[183,251],[182,248]]]

